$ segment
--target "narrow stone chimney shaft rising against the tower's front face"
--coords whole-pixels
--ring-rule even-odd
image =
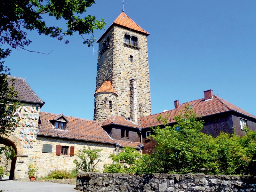
[[[130,117],[134,123],[138,123],[136,79],[130,80]]]

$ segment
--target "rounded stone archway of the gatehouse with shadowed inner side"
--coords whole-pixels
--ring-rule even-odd
[[[13,180],[17,156],[23,156],[23,147],[22,147],[22,144],[20,143],[20,140],[12,134],[10,136],[4,135],[2,136],[2,138],[3,140],[0,141],[0,143],[4,144],[5,146],[12,146],[12,148],[14,148],[16,153],[16,157],[12,158],[11,170],[9,175],[9,180]]]

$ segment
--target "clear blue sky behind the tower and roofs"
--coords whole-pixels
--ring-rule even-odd
[[[105,18],[106,29],[121,13],[120,0],[96,0],[88,14]],[[127,0],[125,13],[148,36],[152,114],[201,99],[212,89],[256,115],[256,1]],[[49,26],[64,20],[44,16]],[[95,31],[99,38],[104,30]],[[26,77],[45,101],[42,111],[93,119],[97,55],[75,34],[68,45],[28,32],[29,50],[13,50],[5,64],[13,76]],[[2,46],[4,48],[5,46]],[[94,44],[98,50],[98,44]]]

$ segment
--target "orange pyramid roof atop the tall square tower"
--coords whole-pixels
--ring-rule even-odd
[[[146,36],[149,36],[149,33],[143,30],[137,23],[135,23],[130,17],[128,17],[124,12],[122,12],[116,20],[112,23],[112,25],[105,31],[105,33],[99,38],[97,43],[108,33],[108,31],[114,26],[121,26],[123,28],[131,29],[132,31],[142,33]]]

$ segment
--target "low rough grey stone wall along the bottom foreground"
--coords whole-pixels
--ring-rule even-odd
[[[204,174],[79,173],[76,189],[86,192],[251,192],[256,190],[252,176]]]

